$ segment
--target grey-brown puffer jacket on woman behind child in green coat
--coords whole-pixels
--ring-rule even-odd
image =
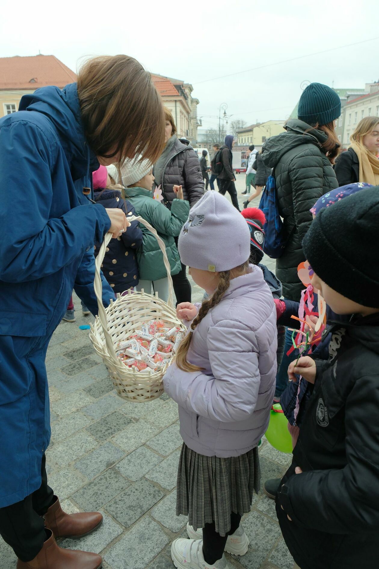
[[[162,175],[164,204],[170,207],[176,198],[174,185],[182,185],[183,197],[190,206],[204,194],[204,180],[198,155],[188,141],[176,139],[166,159]]]

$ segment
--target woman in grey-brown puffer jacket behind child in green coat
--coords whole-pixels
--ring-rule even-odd
[[[204,195],[204,180],[198,155],[185,139],[177,138],[174,117],[168,109],[165,112],[165,148],[154,164],[155,185],[161,186],[163,203],[170,209],[176,199],[178,188],[182,188],[183,197],[190,207]],[[176,245],[177,239],[176,239]],[[191,302],[191,285],[187,278],[187,267],[173,275],[173,287],[177,302]]]

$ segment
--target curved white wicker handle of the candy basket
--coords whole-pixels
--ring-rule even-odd
[[[163,240],[161,240],[161,238],[157,234],[156,230],[152,227],[152,225],[150,225],[142,217],[139,217],[139,216],[130,216],[129,217],[128,216],[127,219],[130,222],[131,221],[139,221],[149,231],[151,231],[153,236],[155,236],[155,238],[158,242],[159,248],[163,253],[163,262],[164,262],[164,266],[166,267],[166,271],[167,271],[167,278],[168,278],[168,302],[167,302],[167,304],[169,305],[170,308],[173,308],[174,307],[174,301],[173,301],[173,294],[172,294],[173,286],[172,286],[172,278],[171,278],[171,269],[170,269],[170,263],[168,262],[166,248],[165,248],[165,244],[164,244]],[[104,261],[107,245],[109,244],[111,239],[112,239],[112,233],[109,233],[109,232],[106,233],[106,235],[104,237],[104,241],[101,245],[101,248],[99,249],[99,253],[98,253],[96,261],[95,261],[94,291],[95,291],[95,295],[97,298],[97,304],[98,304],[98,308],[99,308],[98,315],[99,315],[100,323],[101,323],[102,328],[103,328],[107,350],[108,350],[110,357],[115,361],[115,363],[118,363],[118,359],[116,357],[113,342],[112,342],[110,333],[108,332],[107,316],[106,316],[106,312],[105,312],[105,308],[104,308],[103,300],[102,300],[103,286],[102,286],[101,277],[100,277],[101,265],[102,265],[102,262]]]

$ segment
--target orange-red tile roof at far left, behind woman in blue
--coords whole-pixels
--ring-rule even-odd
[[[45,85],[62,88],[74,81],[76,73],[54,55],[0,57],[0,90],[34,90]]]

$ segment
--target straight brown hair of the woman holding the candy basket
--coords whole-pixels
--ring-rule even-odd
[[[143,152],[152,163],[164,149],[164,109],[150,73],[127,55],[87,61],[77,79],[84,130],[97,156],[122,163]]]

